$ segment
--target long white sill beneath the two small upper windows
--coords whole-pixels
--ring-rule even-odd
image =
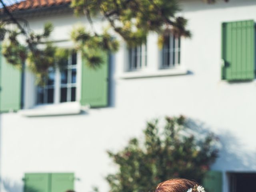
[[[186,75],[188,70],[184,68],[165,68],[158,69],[156,71],[128,71],[124,72],[119,76],[122,79],[132,79],[132,78],[148,78],[148,77],[160,77],[160,76],[176,76],[176,75]]]

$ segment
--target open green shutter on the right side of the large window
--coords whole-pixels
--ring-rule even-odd
[[[104,64],[95,69],[86,65],[83,59],[81,105],[108,106],[108,54],[104,53],[103,56]]]

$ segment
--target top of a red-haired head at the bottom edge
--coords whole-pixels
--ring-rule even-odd
[[[158,184],[155,192],[187,192],[187,190],[196,185],[198,185],[197,182],[188,179],[175,178]]]

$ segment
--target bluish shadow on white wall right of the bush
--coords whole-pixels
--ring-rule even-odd
[[[188,119],[188,126],[205,134],[210,132],[210,127],[201,121]],[[233,172],[256,172],[256,151],[248,151],[246,144],[242,143],[238,136],[224,128],[221,134],[216,134],[219,140],[219,157],[212,165],[214,170]]]

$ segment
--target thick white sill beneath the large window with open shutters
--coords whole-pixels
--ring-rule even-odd
[[[88,109],[88,106],[81,106],[79,102],[66,102],[60,104],[38,105],[34,108],[20,110],[18,113],[21,116],[26,117],[59,116],[80,114],[81,110]]]

